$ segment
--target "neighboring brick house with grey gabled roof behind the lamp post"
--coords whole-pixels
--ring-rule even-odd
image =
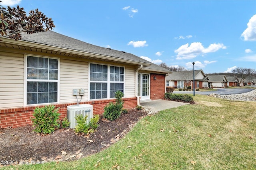
[[[204,74],[204,71],[195,70],[195,88],[208,88],[209,78]],[[191,86],[193,89],[193,70],[192,71],[177,71],[172,72],[169,76],[166,77],[166,86],[175,87],[175,88],[187,88]]]

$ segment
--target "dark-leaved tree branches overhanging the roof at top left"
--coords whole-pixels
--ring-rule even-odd
[[[27,16],[24,8],[19,6],[17,8],[8,6],[6,9],[0,5],[0,19],[0,38],[21,40],[21,32],[33,34],[52,30],[55,27],[52,18],[46,17],[38,9],[30,10]]]

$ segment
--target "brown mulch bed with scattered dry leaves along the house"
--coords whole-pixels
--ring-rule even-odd
[[[88,137],[78,136],[73,129],[58,129],[53,134],[41,136],[27,125],[18,128],[0,129],[0,160],[14,164],[31,161],[75,160],[108,148],[122,138],[146,111],[131,109],[115,121],[104,121],[100,117],[97,131]],[[6,163],[5,163],[6,164]],[[0,164],[0,167],[4,166]]]

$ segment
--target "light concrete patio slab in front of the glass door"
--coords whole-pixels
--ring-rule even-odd
[[[165,109],[170,109],[173,107],[179,107],[183,105],[188,105],[189,103],[182,103],[177,101],[167,101],[167,100],[153,100],[153,101],[141,101],[140,105],[146,109],[151,109],[152,111],[158,112]]]

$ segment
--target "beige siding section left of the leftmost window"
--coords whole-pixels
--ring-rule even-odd
[[[22,107],[24,55],[0,52],[0,108]]]

